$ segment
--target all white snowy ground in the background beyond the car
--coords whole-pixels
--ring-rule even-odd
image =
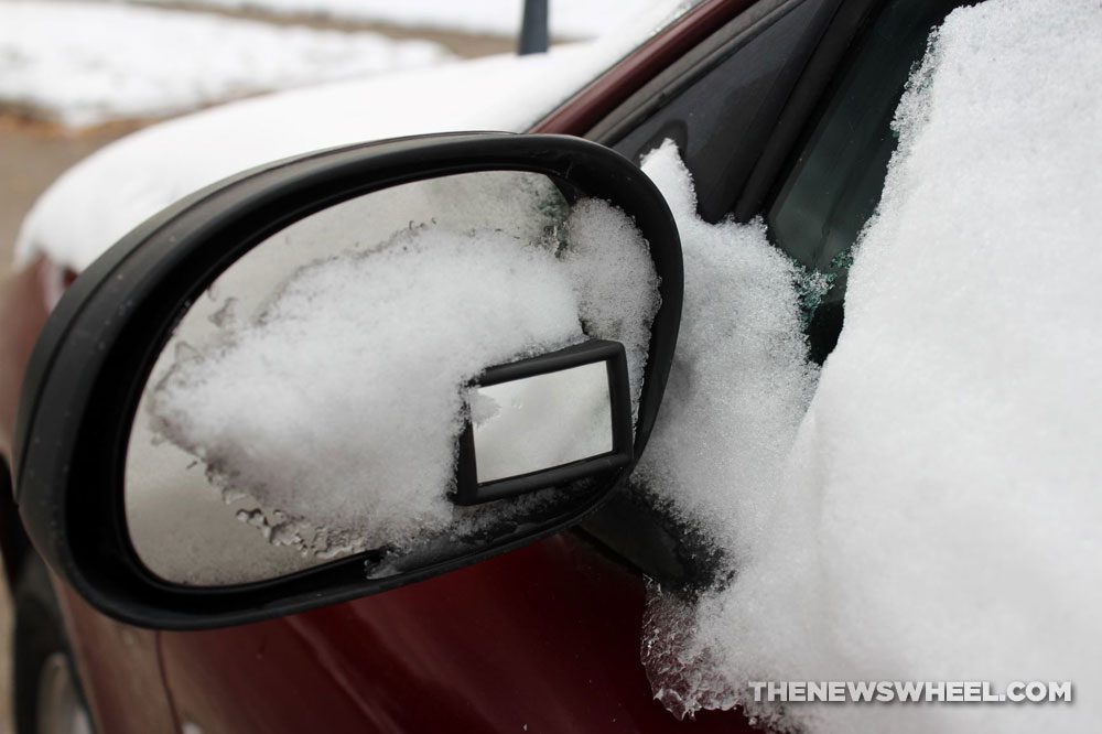
[[[437,43],[388,37],[363,25],[396,29],[400,35],[433,31],[505,40],[517,35],[522,4],[522,0],[0,0],[0,112],[80,128],[162,118],[262,91],[422,67],[447,61],[451,54]],[[559,40],[609,34],[651,4],[558,0],[551,3],[551,32]],[[295,19],[348,23],[353,30],[307,28],[293,24]]]

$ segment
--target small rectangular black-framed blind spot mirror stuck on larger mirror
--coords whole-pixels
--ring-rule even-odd
[[[594,339],[494,367],[472,386],[454,500],[500,499],[630,461],[624,347]]]

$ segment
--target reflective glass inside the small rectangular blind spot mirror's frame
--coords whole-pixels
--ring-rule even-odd
[[[613,450],[608,370],[597,361],[477,387],[471,398],[478,482],[495,482]]]

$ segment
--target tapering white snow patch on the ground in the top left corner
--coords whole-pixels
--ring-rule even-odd
[[[87,2],[0,3],[0,105],[69,126],[439,63],[426,41]]]

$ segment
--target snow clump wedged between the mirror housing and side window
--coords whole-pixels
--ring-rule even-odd
[[[677,219],[685,296],[661,413],[634,477],[742,557],[767,530],[763,498],[779,484],[814,388],[797,270],[759,222],[696,216],[672,141],[642,169]]]

